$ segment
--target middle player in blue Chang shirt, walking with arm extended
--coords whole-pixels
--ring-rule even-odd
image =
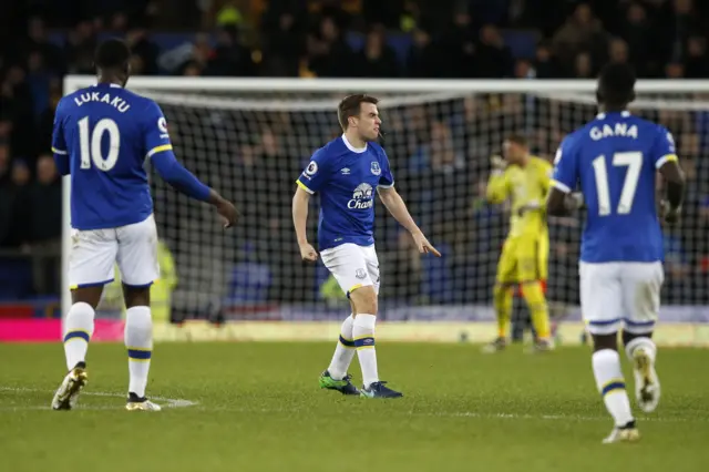
[[[343,134],[319,148],[298,177],[292,218],[300,255],[315,261],[318,253],[308,243],[306,220],[310,195],[320,194],[318,246],[322,263],[350,299],[352,314],[345,320],[330,367],[322,372],[321,388],[368,398],[398,398],[377,371],[374,325],[379,294],[379,261],[374,250],[374,197],[379,194],[393,217],[410,233],[420,253],[439,252],[429,243],[394,189],[384,150],[376,142],[381,119],[378,100],[357,94],[338,106]],[[357,350],[363,388],[358,390],[347,370]]]

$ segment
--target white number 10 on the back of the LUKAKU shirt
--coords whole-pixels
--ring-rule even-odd
[[[109,133],[109,155],[103,156],[101,141]],[[89,129],[89,116],[79,120],[79,144],[81,148],[81,168],[91,168],[91,163],[103,171],[111,171],[119,161],[121,131],[111,119],[99,120],[93,131]]]

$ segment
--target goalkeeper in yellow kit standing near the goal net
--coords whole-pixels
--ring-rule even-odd
[[[512,297],[518,286],[536,331],[536,350],[551,350],[549,315],[544,296],[548,259],[545,204],[551,186],[552,164],[530,154],[526,140],[512,135],[503,143],[504,158],[492,158],[487,201],[512,199],[510,234],[502,248],[493,289],[497,338],[485,347],[496,352],[507,345]]]

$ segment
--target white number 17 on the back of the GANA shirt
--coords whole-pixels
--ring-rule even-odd
[[[613,165],[616,167],[628,167],[620,191],[620,199],[616,213],[627,215],[633,209],[635,192],[638,187],[640,168],[643,167],[643,153],[626,152],[613,155]],[[596,194],[598,195],[598,215],[610,215],[610,189],[608,187],[608,171],[606,168],[606,156],[599,155],[593,161],[594,173],[596,175]]]

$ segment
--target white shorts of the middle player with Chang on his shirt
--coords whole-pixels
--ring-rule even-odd
[[[320,257],[348,298],[351,291],[370,285],[379,294],[379,259],[374,245],[346,243],[320,252]]]

